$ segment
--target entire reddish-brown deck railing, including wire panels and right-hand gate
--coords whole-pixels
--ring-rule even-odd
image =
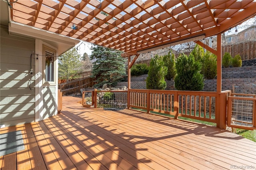
[[[102,93],[101,97],[97,97],[100,93]],[[107,93],[107,97],[103,97]],[[91,103],[88,103],[88,100]],[[175,119],[186,117],[216,123],[216,126],[222,129],[226,129],[226,125],[256,129],[256,95],[235,94],[230,90],[217,93],[149,89],[97,91],[94,89],[94,91],[83,92],[82,104],[84,107],[127,107],[142,109],[147,113],[165,113],[173,115]]]

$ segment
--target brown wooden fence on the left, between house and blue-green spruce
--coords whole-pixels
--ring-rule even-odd
[[[80,89],[93,87],[94,84],[94,78],[87,77],[84,79],[61,83],[58,85],[58,89],[62,91],[63,95],[71,95],[74,93],[81,93]]]

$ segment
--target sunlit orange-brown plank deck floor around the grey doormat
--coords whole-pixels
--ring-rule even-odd
[[[256,143],[216,127],[124,109],[84,108],[63,97],[60,114],[22,130],[25,150],[0,157],[15,169],[256,169]]]

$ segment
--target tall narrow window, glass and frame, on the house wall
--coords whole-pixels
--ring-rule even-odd
[[[55,76],[54,76],[55,51],[44,46],[44,55],[45,55],[44,80],[45,82],[54,82],[55,81]]]

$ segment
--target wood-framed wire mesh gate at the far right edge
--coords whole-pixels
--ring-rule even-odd
[[[231,93],[227,117],[228,127],[256,129],[256,95]]]

